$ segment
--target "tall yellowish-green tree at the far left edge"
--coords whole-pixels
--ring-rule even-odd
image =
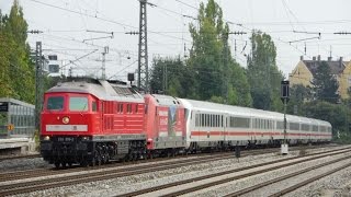
[[[0,14],[0,96],[34,103],[34,66],[26,43],[27,23],[19,1],[9,15]]]

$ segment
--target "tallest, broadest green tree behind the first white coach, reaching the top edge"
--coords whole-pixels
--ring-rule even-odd
[[[200,4],[199,27],[190,24],[193,46],[186,65],[195,78],[195,97],[223,101],[228,104],[251,104],[249,84],[240,66],[230,56],[228,24],[223,22],[223,12],[214,0]]]

